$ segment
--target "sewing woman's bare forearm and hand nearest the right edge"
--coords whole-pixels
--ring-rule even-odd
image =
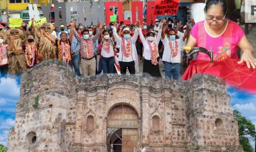
[[[253,45],[249,42],[246,36],[243,36],[240,42],[238,42],[238,46],[243,51],[241,56],[241,60],[238,61],[238,64],[242,64],[244,61],[247,64],[248,68],[256,67],[256,59],[253,57],[254,48]]]

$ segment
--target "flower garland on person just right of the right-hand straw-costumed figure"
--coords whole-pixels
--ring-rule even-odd
[[[70,45],[69,43],[60,42],[58,41],[58,49],[59,49],[59,60],[69,64],[71,61],[71,54],[70,54]]]

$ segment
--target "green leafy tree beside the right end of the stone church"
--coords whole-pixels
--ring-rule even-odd
[[[238,121],[238,133],[239,133],[239,143],[243,146],[244,151],[253,152],[253,147],[250,145],[248,136],[256,139],[255,125],[251,120],[247,120],[245,116],[242,116],[241,112],[238,110],[233,111],[234,117]]]

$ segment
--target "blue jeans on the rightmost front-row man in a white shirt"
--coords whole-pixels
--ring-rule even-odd
[[[180,63],[168,63],[164,62],[165,79],[179,80],[181,73]],[[172,78],[173,77],[173,78]]]

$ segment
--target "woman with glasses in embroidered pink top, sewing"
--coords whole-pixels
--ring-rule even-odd
[[[236,22],[227,19],[227,12],[226,0],[208,0],[205,5],[205,20],[193,26],[187,46],[212,50],[214,61],[228,58],[238,59],[236,51],[240,47],[243,55],[238,64],[245,61],[248,68],[255,69],[256,59],[253,57],[253,46],[247,40],[241,27]],[[210,57],[199,52],[197,60],[210,61]]]

